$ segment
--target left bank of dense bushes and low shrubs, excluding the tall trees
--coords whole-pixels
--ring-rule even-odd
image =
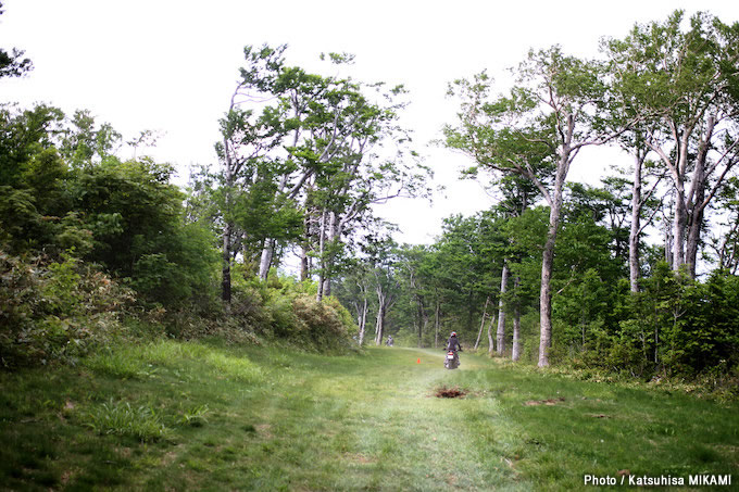
[[[0,109],[0,361],[74,362],[116,340],[221,333],[346,350],[353,323],[316,286],[239,268],[220,300],[218,238],[191,215],[173,168],[120,153],[88,112]],[[141,138],[142,137],[142,138]]]

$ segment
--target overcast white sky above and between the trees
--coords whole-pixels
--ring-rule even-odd
[[[529,48],[562,45],[596,55],[602,36],[623,37],[636,23],[663,21],[675,9],[707,11],[739,21],[739,2],[593,0],[509,2],[251,1],[251,0],[4,0],[0,47],[26,51],[35,70],[0,81],[0,102],[41,101],[67,113],[88,109],[125,138],[143,129],[165,133],[149,151],[180,169],[215,163],[217,119],[225,112],[246,45],[288,43],[287,61],[317,68],[321,52],[356,55],[354,77],[404,84],[411,106],[404,125],[437,182],[448,187],[434,204],[397,201],[378,210],[399,223],[406,242],[428,242],[441,218],[492,204],[476,182],[458,181],[467,161],[426,148],[454,123],[447,84],[484,68],[494,77],[517,65]],[[361,5],[361,7],[356,7]],[[572,180],[599,181],[615,153],[584,152]]]

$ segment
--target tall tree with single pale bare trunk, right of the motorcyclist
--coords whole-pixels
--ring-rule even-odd
[[[605,143],[623,130],[603,130],[600,123],[608,90],[602,66],[566,56],[559,47],[529,52],[510,97],[489,100],[489,89],[485,73],[455,83],[450,91],[462,98],[462,112],[459,126],[444,130],[447,146],[471,155],[477,166],[529,179],[549,204],[539,301],[539,366],[547,366],[554,244],[567,173],[583,148]]]

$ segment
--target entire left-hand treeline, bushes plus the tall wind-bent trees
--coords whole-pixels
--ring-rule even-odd
[[[245,81],[221,122],[221,167],[199,169],[186,190],[173,166],[142,155],[151,131],[127,140],[88,111],[0,108],[2,367],[75,362],[115,340],[164,335],[355,345],[328,283],[306,277],[334,275],[339,238],[374,220],[371,203],[418,179],[369,154],[394,131],[390,108],[350,79],[284,66],[284,49],[245,50]],[[3,76],[32,67],[14,53]],[[242,110],[250,90],[272,91],[274,105]],[[402,92],[371,91],[380,101]],[[296,242],[304,281],[271,274]]]

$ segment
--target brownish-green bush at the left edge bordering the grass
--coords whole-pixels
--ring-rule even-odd
[[[72,255],[22,258],[0,250],[0,359],[5,368],[74,362],[110,342],[130,292]]]

